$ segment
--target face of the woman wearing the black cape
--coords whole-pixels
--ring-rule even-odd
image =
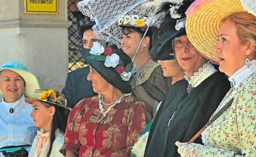
[[[190,43],[187,35],[174,38],[173,47],[178,63],[188,75],[193,75],[204,64],[204,57]]]

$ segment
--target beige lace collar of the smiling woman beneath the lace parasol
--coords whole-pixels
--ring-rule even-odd
[[[157,66],[159,66],[159,64],[156,62],[153,62],[153,63],[150,63],[148,66],[145,66],[144,68],[139,70],[137,73],[134,73],[134,76],[132,78],[134,82],[131,83],[131,87],[134,88],[146,82],[151,76],[152,72],[155,70],[155,68],[157,68]]]

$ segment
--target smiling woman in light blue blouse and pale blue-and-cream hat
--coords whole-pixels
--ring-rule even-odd
[[[29,114],[32,110],[24,98],[33,96],[40,89],[36,77],[18,61],[7,61],[0,66],[0,156],[24,154],[36,135],[36,127]],[[12,147],[10,149],[10,147]],[[23,150],[23,151],[22,151]]]

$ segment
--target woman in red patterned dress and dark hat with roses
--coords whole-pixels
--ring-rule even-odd
[[[69,114],[62,152],[66,156],[131,156],[148,122],[143,102],[131,96],[127,54],[94,42],[85,61],[97,96],[84,98]]]

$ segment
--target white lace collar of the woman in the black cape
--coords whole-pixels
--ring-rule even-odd
[[[199,84],[201,84],[201,82],[206,80],[206,78],[208,78],[213,73],[215,73],[215,71],[217,71],[217,70],[214,68],[214,66],[210,63],[210,61],[207,61],[191,77],[189,77],[187,75],[187,73],[185,73],[184,77],[185,77],[185,80],[187,80],[187,82],[189,84],[188,87],[194,88],[194,87],[197,87]],[[187,91],[187,92],[190,93],[189,91]]]

